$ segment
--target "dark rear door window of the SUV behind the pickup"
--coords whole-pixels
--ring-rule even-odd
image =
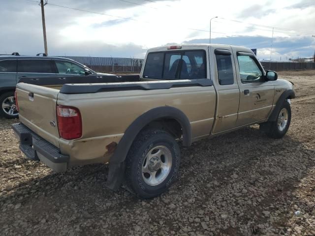
[[[50,59],[19,59],[18,72],[24,73],[56,73]]]

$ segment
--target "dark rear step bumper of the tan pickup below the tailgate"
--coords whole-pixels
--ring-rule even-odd
[[[12,129],[20,141],[20,149],[30,160],[41,160],[56,172],[64,172],[70,159],[60,153],[60,149],[39,137],[22,123],[12,124]]]

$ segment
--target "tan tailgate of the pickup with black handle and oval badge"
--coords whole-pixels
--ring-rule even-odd
[[[20,121],[34,133],[59,147],[56,104],[58,89],[18,83],[16,96]]]

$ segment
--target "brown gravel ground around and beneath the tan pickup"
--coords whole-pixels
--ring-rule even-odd
[[[297,94],[284,139],[256,125],[196,142],[177,182],[146,201],[106,189],[106,165],[56,174],[25,159],[18,120],[0,120],[0,235],[315,236],[315,72],[280,77]]]

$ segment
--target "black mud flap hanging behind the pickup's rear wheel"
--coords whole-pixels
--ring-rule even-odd
[[[123,183],[125,177],[125,161],[120,163],[109,163],[109,171],[106,181],[106,187],[117,191]]]

